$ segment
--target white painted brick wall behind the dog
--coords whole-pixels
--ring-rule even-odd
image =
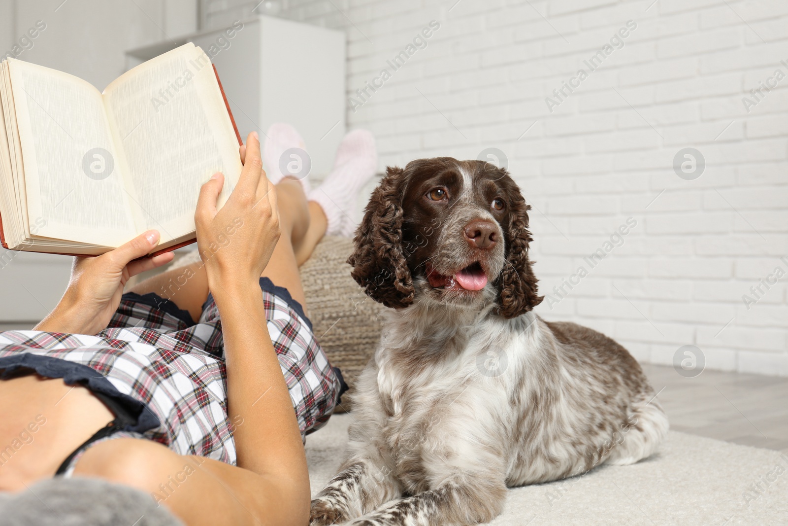
[[[546,319],[602,330],[639,360],[670,364],[693,344],[707,367],[788,375],[788,275],[749,310],[742,301],[775,267],[788,273],[788,3],[455,2],[290,0],[282,16],[346,30],[349,96],[440,21],[348,125],[375,133],[381,169],[504,151],[534,205],[543,293],[637,221],[552,310],[538,308]],[[208,0],[206,19],[256,3]],[[550,113],[545,97],[630,20],[624,47]],[[747,112],[742,97],[776,69],[786,78]],[[683,147],[707,163],[694,181],[672,169]]]

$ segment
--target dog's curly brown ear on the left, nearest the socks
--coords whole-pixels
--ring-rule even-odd
[[[355,233],[351,275],[373,300],[390,308],[413,302],[411,270],[402,248],[404,170],[388,167]]]

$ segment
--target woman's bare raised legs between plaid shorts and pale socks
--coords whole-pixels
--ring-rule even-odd
[[[277,198],[282,233],[261,276],[288,289],[293,299],[304,305],[298,267],[309,259],[325,235],[325,214],[318,203],[307,202],[298,181],[284,178],[277,185]],[[190,263],[148,278],[132,287],[130,292],[156,293],[173,300],[178,308],[189,311],[191,318],[197,320],[208,298],[208,278],[203,263]]]

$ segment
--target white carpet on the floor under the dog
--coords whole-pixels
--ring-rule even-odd
[[[307,437],[313,495],[344,460],[350,422],[333,416]],[[660,453],[637,464],[511,489],[489,524],[785,526],[788,455],[671,431]]]

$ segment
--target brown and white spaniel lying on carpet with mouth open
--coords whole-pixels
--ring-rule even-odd
[[[313,526],[478,524],[501,512],[507,486],[656,451],[667,418],[630,353],[533,313],[529,209],[485,162],[388,169],[348,261],[391,309]]]

